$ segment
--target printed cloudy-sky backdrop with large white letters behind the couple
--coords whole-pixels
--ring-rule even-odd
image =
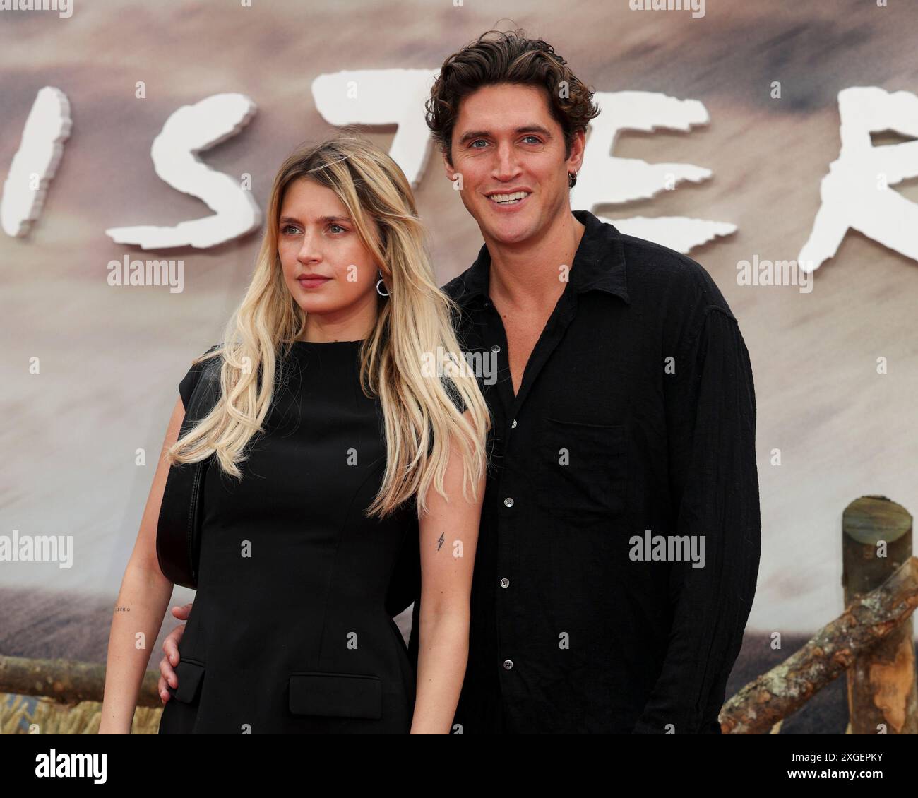
[[[599,93],[574,207],[688,252],[740,321],[763,523],[749,633],[807,635],[841,612],[845,505],[918,508],[918,6],[641,5],[0,10],[0,535],[72,541],[66,568],[0,562],[0,653],[104,661],[178,382],[241,298],[297,143],[355,125],[415,184],[441,283],[471,264],[482,240],[422,101],[495,27],[548,39]],[[195,147],[203,165],[170,160]],[[196,245],[156,243],[182,236]],[[111,284],[111,262],[151,258],[182,262],[179,290]],[[809,286],[742,279],[797,260]]]

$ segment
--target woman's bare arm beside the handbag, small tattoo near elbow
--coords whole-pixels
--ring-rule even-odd
[[[182,400],[178,399],[166,430],[147,506],[140,520],[137,542],[125,568],[121,590],[118,591],[108,638],[100,735],[130,734],[140,684],[150,660],[149,646],[159,635],[166,606],[172,598],[173,583],[162,576],[156,556],[156,528],[162,493],[169,476],[169,463],[164,455],[178,440],[184,419],[185,407]]]

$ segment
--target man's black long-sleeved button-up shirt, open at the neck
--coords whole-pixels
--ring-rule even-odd
[[[699,264],[574,216],[517,396],[487,246],[444,287],[464,350],[498,363],[478,375],[494,429],[455,723],[719,734],[760,550],[749,355]]]

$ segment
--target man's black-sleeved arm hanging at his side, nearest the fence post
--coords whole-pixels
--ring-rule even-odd
[[[756,394],[729,311],[705,311],[699,332],[677,354],[676,374],[666,378],[676,534],[703,535],[705,561],[703,568],[670,564],[666,658],[633,734],[698,734],[705,712],[720,707],[756,594],[761,549]]]

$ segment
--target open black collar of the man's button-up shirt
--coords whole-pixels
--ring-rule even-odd
[[[608,222],[599,221],[588,210],[575,210],[573,214],[587,229],[568,275],[572,287],[578,293],[592,289],[606,291],[630,305],[621,233]],[[484,244],[475,263],[461,275],[463,285],[455,297],[461,307],[468,307],[475,298],[487,297],[490,271],[491,254]]]

